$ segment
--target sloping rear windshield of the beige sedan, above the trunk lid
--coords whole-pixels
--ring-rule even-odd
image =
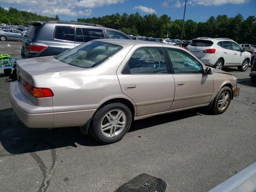
[[[55,59],[77,67],[93,68],[110,58],[120,49],[122,47],[119,45],[89,41],[55,56]]]

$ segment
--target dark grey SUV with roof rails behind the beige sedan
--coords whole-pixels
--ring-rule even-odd
[[[131,39],[126,34],[98,24],[48,21],[32,22],[22,39],[22,58],[58,55],[94,39]]]

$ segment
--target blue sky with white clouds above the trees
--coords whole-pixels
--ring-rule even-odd
[[[0,0],[0,6],[26,10],[60,20],[99,17],[110,14],[167,14],[171,20],[182,19],[185,0]],[[204,22],[210,16],[242,14],[244,19],[256,15],[256,0],[187,0],[185,20]]]

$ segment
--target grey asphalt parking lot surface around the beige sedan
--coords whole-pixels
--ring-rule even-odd
[[[20,48],[0,42],[0,54],[18,58]],[[210,190],[256,161],[256,84],[250,68],[224,70],[240,87],[224,114],[194,109],[138,120],[104,146],[79,128],[26,128],[8,98],[14,79],[0,70],[0,191],[113,192],[143,172],[164,179],[168,192]]]

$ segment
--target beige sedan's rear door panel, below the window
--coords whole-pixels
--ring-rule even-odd
[[[172,74],[118,75],[122,92],[132,98],[137,106],[137,116],[168,111],[174,98]],[[127,85],[136,85],[128,89]]]

